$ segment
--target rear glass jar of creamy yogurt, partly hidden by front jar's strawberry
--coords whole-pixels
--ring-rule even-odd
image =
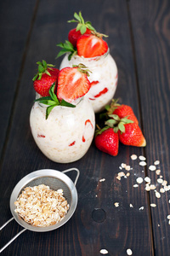
[[[112,58],[110,51],[105,55],[97,56],[94,58],[85,58],[79,55],[73,55],[71,61],[68,61],[66,54],[60,64],[59,69],[64,67],[72,67],[79,63],[84,64],[91,71],[89,73],[89,81],[91,88],[85,97],[88,97],[91,102],[94,112],[99,113],[105,109],[105,105],[111,102],[115,92],[118,79],[116,62]]]

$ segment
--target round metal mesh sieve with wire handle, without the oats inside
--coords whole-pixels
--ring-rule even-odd
[[[71,178],[65,175],[65,172],[71,172],[76,171],[77,177],[75,179],[75,182],[73,183]],[[3,230],[3,228],[8,224],[11,220],[15,219],[18,224],[20,224],[22,227],[24,227],[23,230],[21,230],[16,236],[14,236],[8,243],[0,249],[0,253],[3,252],[3,250],[8,247],[8,245],[14,241],[15,238],[20,236],[21,233],[23,233],[26,230],[36,231],[36,232],[46,232],[50,230],[58,229],[60,226],[65,224],[73,215],[73,213],[76,210],[77,207],[77,189],[76,189],[76,183],[77,179],[79,177],[79,170],[77,168],[71,168],[67,169],[63,172],[59,172],[52,169],[42,169],[38,170],[36,172],[31,172],[30,174],[26,175],[26,177],[23,177],[19,183],[16,184],[14,187],[14,190],[10,197],[10,210],[13,215],[13,218],[10,218],[5,224],[3,224],[2,227],[0,227],[0,230]],[[14,201],[17,200],[20,193],[23,189],[30,186],[37,186],[40,184],[48,185],[50,189],[57,190],[57,189],[63,189],[63,195],[65,196],[65,199],[67,200],[68,204],[70,205],[68,212],[65,215],[65,218],[63,218],[59,223],[50,225],[48,227],[36,227],[32,226],[31,224],[27,224],[26,221],[24,221],[22,218],[20,218],[19,214],[17,212],[14,212],[15,205]]]

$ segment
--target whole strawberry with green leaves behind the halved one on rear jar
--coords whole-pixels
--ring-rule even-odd
[[[71,44],[76,48],[77,47],[77,39],[80,38],[83,34],[90,34],[92,31],[95,31],[94,27],[91,25],[90,21],[84,22],[82,18],[82,13],[75,13],[74,17],[76,20],[69,20],[68,22],[77,22],[78,25],[76,28],[71,29],[68,34],[68,39]]]

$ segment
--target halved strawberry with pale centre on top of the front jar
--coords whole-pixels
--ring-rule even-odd
[[[57,97],[65,102],[73,102],[84,96],[90,89],[88,70],[84,65],[65,67],[59,71]]]

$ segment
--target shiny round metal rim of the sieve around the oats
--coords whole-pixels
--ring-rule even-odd
[[[71,168],[68,170],[65,170],[64,172],[70,172],[72,170],[76,170],[77,168]],[[72,182],[71,178],[65,175],[64,172],[59,172],[54,169],[41,169],[37,170],[35,172],[31,172],[22,179],[20,179],[19,183],[17,183],[13,189],[13,192],[10,196],[10,201],[9,201],[9,207],[10,211],[15,219],[15,221],[20,224],[22,227],[24,227],[26,230],[31,230],[31,231],[36,231],[36,232],[47,232],[51,230],[58,229],[60,226],[65,224],[73,215],[73,213],[76,210],[77,207],[77,201],[78,201],[78,195],[77,195],[77,189],[75,186],[75,183]],[[20,218],[19,214],[17,212],[14,212],[15,206],[14,206],[14,201],[18,198],[20,195],[20,191],[26,187],[27,183],[30,183],[32,180],[37,179],[38,177],[54,177],[58,178],[61,181],[63,181],[68,189],[71,191],[71,205],[70,209],[65,215],[65,218],[63,218],[58,224],[54,224],[48,227],[35,227],[32,226],[31,224],[27,224],[22,218]],[[61,188],[62,189],[62,188]]]

